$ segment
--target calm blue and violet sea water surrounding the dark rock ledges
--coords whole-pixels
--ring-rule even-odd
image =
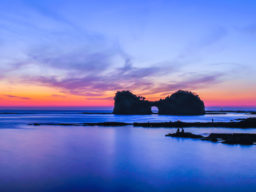
[[[1,112],[1,111],[0,111]],[[5,112],[5,111],[2,111]],[[10,112],[10,111],[9,111]],[[228,122],[246,113],[204,116],[0,114],[0,191],[255,191],[256,145],[165,137],[174,129],[28,123]],[[184,128],[256,133],[256,129]]]

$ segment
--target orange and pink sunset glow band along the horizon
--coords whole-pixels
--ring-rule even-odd
[[[225,106],[225,107],[254,107],[256,106],[256,90],[247,90],[243,84],[236,84],[239,92],[230,91],[237,89],[229,89],[226,87],[230,84],[218,84],[210,88],[189,90],[196,92],[201,100],[204,101],[205,107]],[[234,85],[233,85],[234,86]],[[122,90],[120,90],[122,91]],[[164,99],[166,96],[174,92],[156,93],[144,95],[141,91],[131,91],[137,96],[146,97],[146,100],[157,101]],[[0,92],[0,106],[114,106],[114,96],[116,91],[103,92],[102,96],[83,96],[74,95],[60,91],[56,88],[47,86],[13,86],[6,85]],[[142,93],[142,94],[141,94]],[[244,94],[246,93],[246,94]]]

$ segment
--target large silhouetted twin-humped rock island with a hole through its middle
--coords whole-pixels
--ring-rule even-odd
[[[159,101],[148,101],[129,91],[116,92],[113,114],[148,115],[153,114],[151,107],[158,108],[160,115],[204,115],[204,102],[196,93],[179,90],[170,97]]]

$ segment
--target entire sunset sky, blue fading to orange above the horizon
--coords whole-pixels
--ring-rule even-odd
[[[0,1],[0,106],[196,92],[256,107],[256,1]]]

